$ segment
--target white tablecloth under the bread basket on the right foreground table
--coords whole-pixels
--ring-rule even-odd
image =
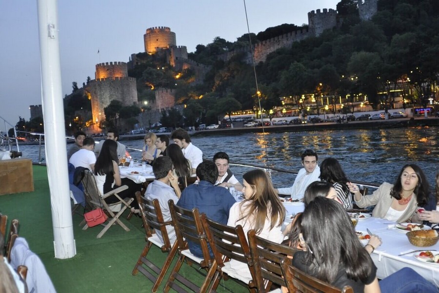
[[[439,243],[431,247],[417,247],[408,241],[405,232],[395,229],[389,220],[379,218],[368,218],[359,220],[356,230],[369,228],[372,233],[379,235],[382,245],[377,248],[371,257],[378,268],[377,277],[383,279],[388,275],[399,271],[404,267],[410,267],[428,281],[439,287],[439,265],[420,262],[410,253],[398,256],[398,254],[417,250],[439,251]],[[396,224],[396,223],[393,223]],[[393,228],[393,229],[389,229]]]

